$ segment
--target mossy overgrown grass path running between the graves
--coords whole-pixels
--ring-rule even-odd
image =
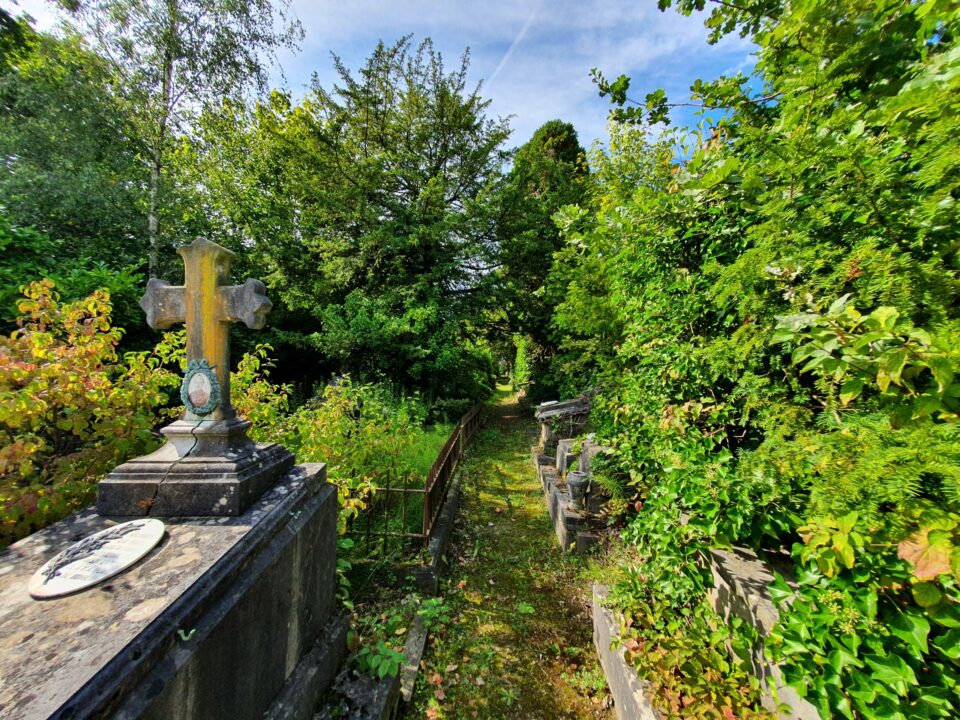
[[[557,546],[530,460],[535,439],[515,396],[487,409],[463,466],[446,617],[407,720],[614,717],[591,642],[585,562]]]

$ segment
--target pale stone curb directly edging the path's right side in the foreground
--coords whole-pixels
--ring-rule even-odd
[[[613,709],[620,720],[659,720],[647,697],[647,685],[637,671],[627,664],[623,648],[614,642],[619,636],[620,624],[612,611],[603,607],[607,588],[593,586],[593,645],[600,658],[600,667],[607,678],[607,687],[613,696]],[[611,649],[611,645],[614,645]]]

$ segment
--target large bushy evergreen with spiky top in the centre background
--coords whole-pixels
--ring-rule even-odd
[[[468,87],[467,56],[448,72],[429,41],[380,43],[356,74],[335,63],[339,83],[298,106],[277,93],[251,124],[211,119],[207,184],[278,297],[312,316],[301,342],[354,374],[476,395],[507,124]],[[224,153],[246,170],[217,173]]]

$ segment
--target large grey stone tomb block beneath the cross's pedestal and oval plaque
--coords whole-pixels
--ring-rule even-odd
[[[27,581],[111,519],[87,510],[0,553],[0,717],[311,717],[346,649],[325,478],[299,465],[243,515],[166,519],[143,560],[67,597]]]

